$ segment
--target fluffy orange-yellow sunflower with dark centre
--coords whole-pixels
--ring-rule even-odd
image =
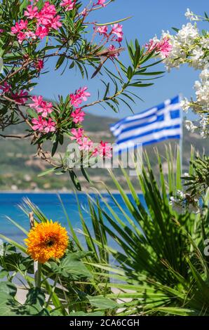
[[[62,258],[67,249],[67,230],[52,220],[36,224],[29,231],[27,253],[39,263],[46,263],[51,258]]]

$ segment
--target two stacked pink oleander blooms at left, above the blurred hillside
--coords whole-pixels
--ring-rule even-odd
[[[29,107],[35,109],[38,114],[41,114],[39,115],[38,119],[32,119],[32,124],[34,124],[34,131],[42,131],[45,133],[54,132],[56,130],[55,121],[53,121],[51,118],[46,120],[48,114],[53,112],[53,104],[51,102],[44,101],[41,95],[33,96],[32,101],[33,103],[30,103]]]

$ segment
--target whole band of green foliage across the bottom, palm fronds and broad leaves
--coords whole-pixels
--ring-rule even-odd
[[[40,308],[43,296],[39,298],[39,295],[42,293],[35,296],[39,304],[37,315],[102,315],[103,312],[114,315],[119,308],[123,308],[119,315],[209,315],[209,257],[205,242],[209,234],[209,190],[203,197],[203,213],[179,214],[174,211],[169,196],[176,194],[177,184],[180,184],[180,153],[177,152],[177,157],[173,157],[169,149],[166,153],[168,175],[163,173],[161,157],[156,150],[159,180],[154,176],[147,154],[144,154],[142,172],[136,166],[136,179],[145,205],[124,169],[121,171],[130,194],[123,190],[112,171],[109,175],[126,207],[119,204],[109,190],[111,203],[98,192],[105,209],[89,197],[92,232],[78,205],[87,250],[79,241],[62,205],[74,244],[69,244],[60,261],[51,260],[43,265],[41,292],[48,293],[50,298]],[[121,216],[115,209],[119,209]],[[38,222],[48,220],[28,200],[22,210],[27,214],[33,211]],[[21,229],[20,225],[17,227]],[[114,246],[109,246],[108,237],[114,240]],[[11,242],[11,239],[7,240]],[[11,243],[18,248],[15,242]],[[27,282],[27,290],[34,289],[31,260],[17,253],[11,244],[6,244],[4,251],[2,276],[11,283],[16,274],[21,275]],[[48,279],[53,284],[49,284]],[[114,293],[112,289],[118,292]],[[18,304],[14,298],[15,287],[11,284],[3,291],[0,290],[0,298],[4,300],[2,312],[11,315],[16,312]],[[118,305],[118,299],[123,303]],[[49,301],[54,306],[52,310],[48,308]],[[34,310],[28,309],[27,302],[18,309],[36,315]]]

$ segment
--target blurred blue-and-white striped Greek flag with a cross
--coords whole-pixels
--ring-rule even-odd
[[[121,119],[110,126],[116,136],[114,152],[136,145],[149,145],[169,138],[182,138],[180,96],[151,107],[144,112]]]

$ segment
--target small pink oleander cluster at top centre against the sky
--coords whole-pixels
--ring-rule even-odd
[[[116,23],[112,25],[112,29],[108,32],[108,26],[103,25],[102,27],[95,27],[95,32],[103,35],[108,41],[117,41],[119,44],[123,41],[123,25]]]

